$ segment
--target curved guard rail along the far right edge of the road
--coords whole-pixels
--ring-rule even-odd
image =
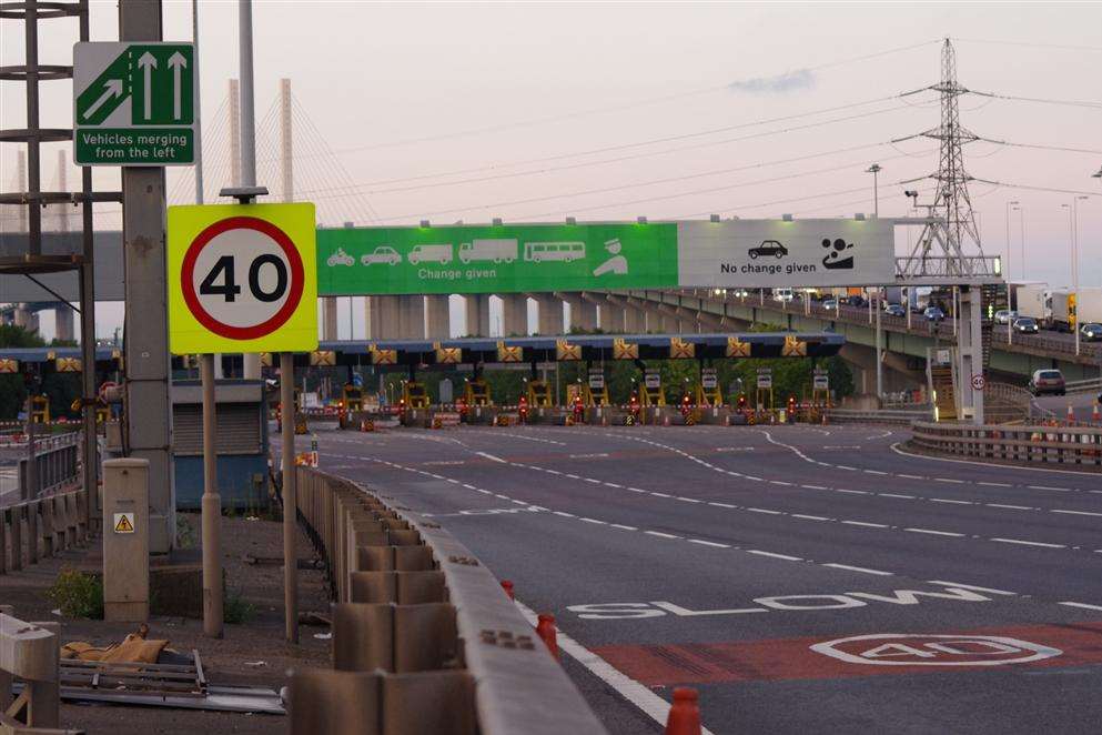
[[[916,422],[910,443],[952,456],[1102,470],[1102,427]]]

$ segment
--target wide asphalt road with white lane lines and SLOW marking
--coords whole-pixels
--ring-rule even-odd
[[[697,687],[712,733],[1102,722],[1098,475],[909,456],[872,426],[317,439],[323,470],[432,515],[590,665]],[[565,665],[611,732],[661,732]]]

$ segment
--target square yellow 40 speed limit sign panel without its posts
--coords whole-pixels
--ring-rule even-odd
[[[173,354],[317,349],[313,204],[169,208]]]

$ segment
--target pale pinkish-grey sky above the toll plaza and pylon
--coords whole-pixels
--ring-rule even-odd
[[[225,98],[226,79],[236,75],[236,3],[200,4],[203,124],[214,131],[212,117]],[[93,2],[93,40],[114,39],[115,18],[113,2]],[[874,161],[883,167],[881,214],[901,214],[904,187],[892,182],[933,171],[934,141],[823,153],[936,127],[936,95],[801,113],[934,83],[936,41],[946,34],[960,39],[959,74],[969,88],[1102,102],[1100,3],[257,1],[254,21],[257,119],[275,99],[277,80],[290,78],[302,111],[357,184],[358,199],[347,189],[334,190],[344,181],[317,155],[321,143],[311,149],[300,143],[296,188],[334,223],[355,219],[366,224],[371,212],[403,224],[426,213],[439,222],[560,220],[567,213],[579,220],[709,212],[851,215],[872,210],[871,181],[863,171]],[[43,28],[43,62],[65,62],[74,24],[52,21]],[[20,27],[4,21],[0,31],[0,59],[18,63]],[[165,2],[164,31],[168,40],[191,38],[190,2]],[[873,56],[903,47],[916,48]],[[47,87],[44,124],[69,124],[68,82]],[[2,84],[0,123],[6,128],[21,124],[21,91],[19,84]],[[1102,150],[1099,108],[965,98],[961,110],[968,128],[992,139]],[[827,120],[838,121],[816,124]],[[813,127],[761,134],[806,125]],[[719,128],[728,130],[697,134]],[[742,140],[731,141],[736,138]],[[657,139],[668,140],[634,145]],[[208,147],[215,142],[206,140]],[[13,183],[13,148],[4,145],[0,155],[4,190]],[[579,154],[599,149],[609,150]],[[47,184],[54,178],[52,157],[43,159]],[[797,158],[805,160],[774,163]],[[609,162],[593,164],[597,161]],[[1102,284],[1102,182],[1090,178],[1102,153],[975,143],[967,164],[977,178],[1095,192],[1080,203],[1081,282]],[[436,175],[452,171],[466,173]],[[518,172],[525,175],[508,175]],[[170,191],[189,197],[190,175],[170,172]],[[212,162],[209,175],[224,178],[224,167]],[[186,181],[176,183],[180,177]],[[414,177],[426,178],[410,180]],[[112,185],[117,174],[99,170],[97,180]],[[653,183],[640,185],[645,182]],[[862,187],[868,191],[853,191]],[[822,195],[830,192],[848,193]],[[1027,276],[1069,282],[1068,214],[1060,205],[1071,194],[975,183],[972,197],[989,253],[1004,251],[1005,204],[1018,200],[1025,209]],[[117,224],[118,219],[107,214],[101,221]],[[1012,230],[1017,245],[1017,223]],[[1017,276],[1017,249],[1012,260]]]

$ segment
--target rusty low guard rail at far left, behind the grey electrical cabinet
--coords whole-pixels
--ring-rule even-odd
[[[83,487],[0,507],[0,575],[84,542]]]

